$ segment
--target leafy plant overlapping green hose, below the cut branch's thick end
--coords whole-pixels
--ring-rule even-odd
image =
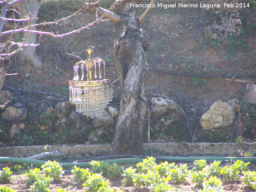
[[[63,177],[62,174],[64,173],[64,171],[62,171],[62,165],[60,165],[56,161],[51,162],[50,160],[48,160],[48,162],[43,164],[41,168],[46,177],[50,176],[54,180],[60,179],[61,177]]]

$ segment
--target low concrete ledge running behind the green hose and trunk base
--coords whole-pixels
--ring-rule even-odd
[[[144,143],[144,155],[171,156],[187,154],[231,154],[234,153],[234,143]],[[67,156],[100,156],[111,155],[112,146],[105,145],[50,145],[47,151],[56,148]],[[244,151],[256,149],[256,143],[244,143]],[[1,157],[28,157],[45,152],[44,146],[18,146],[0,148]]]

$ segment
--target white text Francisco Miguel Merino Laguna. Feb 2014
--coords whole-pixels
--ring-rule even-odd
[[[224,3],[222,5],[223,7],[236,7],[236,8],[249,8],[250,5],[249,3]],[[165,4],[165,3],[157,3],[157,4],[133,4],[133,3],[130,3],[130,7],[133,7],[133,8],[148,8],[148,7],[158,7],[158,8],[164,8],[164,9],[167,9],[167,8],[176,8],[176,7],[181,7],[181,8],[196,8],[196,7],[202,7],[202,8],[206,8],[206,9],[209,9],[209,8],[219,8],[221,7],[220,4],[203,4],[203,3],[200,3],[200,4],[183,4],[183,3],[174,3],[174,4]]]

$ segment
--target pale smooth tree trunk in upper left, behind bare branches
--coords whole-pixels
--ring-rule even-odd
[[[21,15],[29,16],[31,13],[33,19],[31,21],[31,25],[36,24],[36,18],[38,14],[38,10],[40,7],[39,0],[29,0],[29,7],[27,1],[23,1],[22,3],[17,5],[17,8]],[[23,26],[29,26],[30,21],[23,21]],[[31,27],[30,30],[36,30],[36,27]],[[27,33],[24,33],[23,38],[27,36]],[[30,33],[28,35],[27,44],[34,44],[36,45],[36,33]],[[26,65],[32,64],[35,69],[42,69],[43,63],[42,61],[36,56],[36,46],[25,46],[23,50],[20,52],[20,61]]]

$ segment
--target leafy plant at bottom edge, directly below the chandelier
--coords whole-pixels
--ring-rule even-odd
[[[85,186],[85,188],[90,192],[97,192],[100,187],[108,188],[109,180],[105,180],[101,174],[102,172],[100,174],[92,173],[92,175],[88,177],[83,186]]]

